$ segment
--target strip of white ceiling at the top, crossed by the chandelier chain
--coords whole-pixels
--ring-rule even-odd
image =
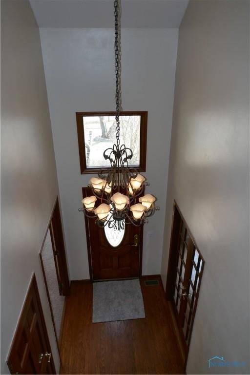
[[[113,0],[30,0],[39,27],[113,27]],[[188,0],[122,0],[122,27],[179,27]]]

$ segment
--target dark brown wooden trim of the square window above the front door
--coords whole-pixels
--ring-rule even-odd
[[[141,116],[140,124],[140,166],[136,167],[139,172],[146,172],[146,133],[147,133],[147,111],[122,111],[121,116]],[[85,153],[85,140],[83,129],[84,116],[115,116],[116,112],[76,112],[77,135],[80,157],[81,174],[92,174],[100,170],[100,167],[87,167],[86,153]],[[109,169],[103,167],[102,169]]]

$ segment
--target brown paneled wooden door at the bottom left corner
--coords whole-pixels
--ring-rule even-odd
[[[55,374],[35,275],[32,278],[7,364],[11,374]]]

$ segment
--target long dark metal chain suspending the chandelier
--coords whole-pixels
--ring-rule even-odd
[[[120,0],[114,0],[115,8],[115,102],[116,102],[116,144],[120,145],[120,110],[121,110],[121,6]]]

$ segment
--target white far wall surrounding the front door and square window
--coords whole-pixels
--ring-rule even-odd
[[[89,277],[75,112],[115,108],[113,29],[40,29],[72,279]],[[124,110],[147,110],[147,191],[162,210],[145,226],[143,274],[160,272],[178,29],[122,29]],[[153,236],[147,237],[147,231]]]

